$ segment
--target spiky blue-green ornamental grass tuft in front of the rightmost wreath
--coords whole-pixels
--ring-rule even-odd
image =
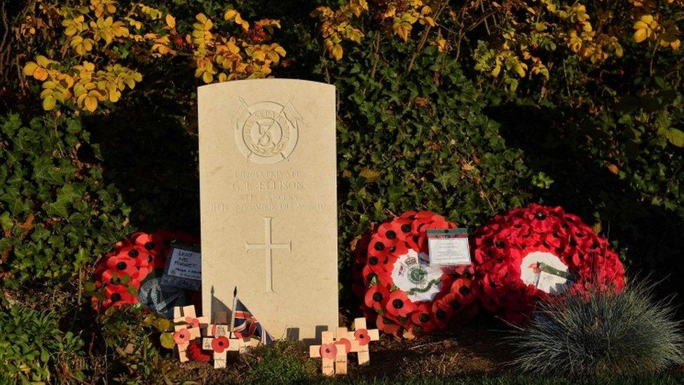
[[[653,285],[643,282],[542,304],[512,342],[514,365],[535,374],[638,376],[684,360],[674,306],[656,300]]]

